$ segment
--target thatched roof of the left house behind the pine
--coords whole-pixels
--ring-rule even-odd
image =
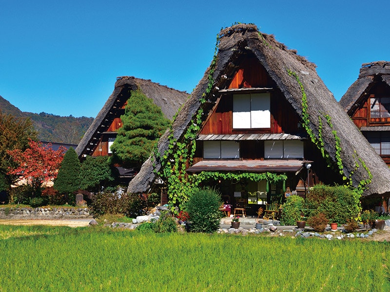
[[[188,99],[189,93],[134,76],[117,77],[115,88],[95,120],[81,139],[76,153],[91,155],[98,145],[101,133],[106,131],[117,117],[115,109],[120,109],[130,97],[130,91],[141,89],[142,92],[159,106],[164,115],[172,120],[180,106]],[[120,117],[120,116],[118,116]]]

